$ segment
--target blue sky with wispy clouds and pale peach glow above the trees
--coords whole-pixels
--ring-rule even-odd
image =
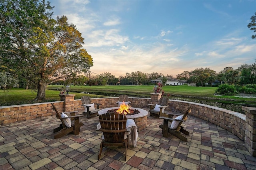
[[[90,71],[162,73],[254,64],[256,0],[50,0],[93,58]]]

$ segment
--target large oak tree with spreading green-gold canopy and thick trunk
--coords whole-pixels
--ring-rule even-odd
[[[0,0],[0,70],[26,79],[45,99],[48,84],[86,73],[92,57],[66,16],[52,18],[45,0]]]

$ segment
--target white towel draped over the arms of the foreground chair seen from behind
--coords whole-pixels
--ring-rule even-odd
[[[101,128],[100,123],[98,123],[97,131],[100,130],[100,128]],[[132,146],[137,147],[138,132],[137,132],[137,126],[133,119],[127,119],[126,129],[127,129],[126,135],[131,134]],[[126,139],[126,135],[124,135],[124,139]],[[102,134],[102,139],[104,139],[103,134]]]

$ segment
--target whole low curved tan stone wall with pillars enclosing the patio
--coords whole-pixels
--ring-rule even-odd
[[[60,95],[62,101],[54,102],[59,112],[64,111],[83,111],[81,100],[74,100],[74,94]],[[162,94],[151,94],[151,98],[129,98],[132,107],[149,108],[148,104],[157,103]],[[92,98],[92,102],[100,103],[100,108],[117,107],[116,102],[119,98]],[[192,106],[189,115],[206,120],[238,136],[245,142],[245,146],[256,157],[256,108],[243,107],[246,115],[194,102],[180,100],[169,100],[170,106],[167,110],[174,112],[186,112]],[[24,120],[41,118],[55,115],[50,102],[37,104],[22,104],[14,106],[0,106],[0,124],[10,124]]]

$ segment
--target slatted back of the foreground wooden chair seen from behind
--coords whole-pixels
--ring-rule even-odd
[[[105,142],[124,142],[126,116],[118,113],[105,113],[99,116],[100,131],[103,132]]]

